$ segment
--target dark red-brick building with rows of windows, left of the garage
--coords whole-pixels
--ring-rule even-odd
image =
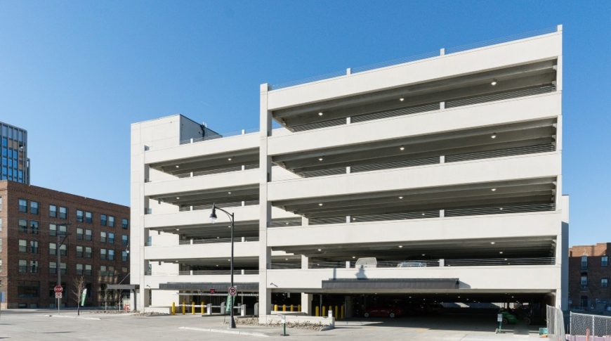
[[[63,307],[76,306],[74,279],[81,276],[86,306],[103,305],[104,296],[108,304],[117,302],[123,295],[104,289],[129,283],[129,207],[0,181],[2,307],[56,307],[58,268]]]

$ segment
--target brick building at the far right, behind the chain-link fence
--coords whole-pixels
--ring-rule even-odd
[[[571,309],[611,311],[611,243],[577,245],[569,251]]]

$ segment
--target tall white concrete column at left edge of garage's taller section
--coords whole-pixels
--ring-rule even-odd
[[[268,181],[272,179],[272,160],[268,156],[268,137],[272,135],[272,113],[268,110],[268,84],[261,84],[259,144],[259,322],[266,323],[271,313],[272,292],[268,289],[268,269],[271,248],[268,247],[268,226],[272,219],[272,206],[268,202]]]

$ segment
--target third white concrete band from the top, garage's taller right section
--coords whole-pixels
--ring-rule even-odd
[[[560,163],[560,154],[551,152],[273,181],[268,184],[268,200],[317,198],[329,195],[534,179],[557,176],[561,172]]]

